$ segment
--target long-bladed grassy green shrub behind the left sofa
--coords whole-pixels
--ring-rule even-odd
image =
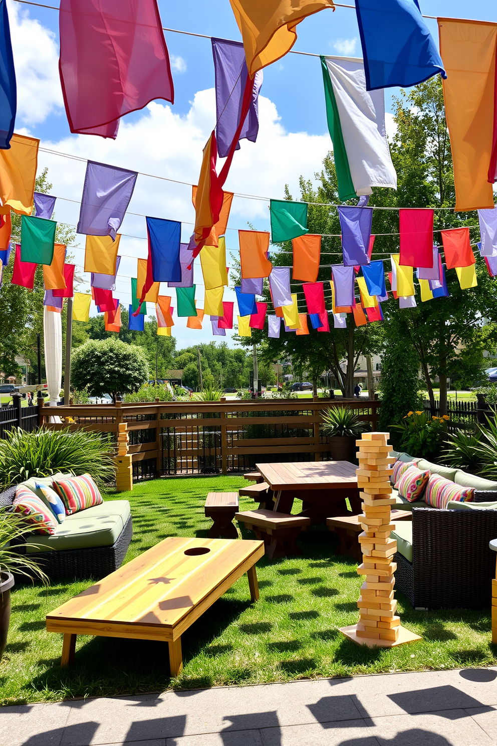
[[[0,440],[0,486],[71,471],[91,474],[103,487],[115,474],[111,448],[109,436],[88,430],[10,430]]]

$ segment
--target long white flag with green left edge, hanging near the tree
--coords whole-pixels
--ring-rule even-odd
[[[361,60],[321,57],[326,119],[341,201],[371,194],[373,186],[397,188],[384,125],[383,90],[366,90]]]

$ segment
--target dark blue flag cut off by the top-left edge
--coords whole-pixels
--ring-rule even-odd
[[[0,0],[0,2],[0,149],[6,150],[10,148],[10,138],[16,122],[17,87],[7,0]]]

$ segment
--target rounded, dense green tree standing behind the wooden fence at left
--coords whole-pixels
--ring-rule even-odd
[[[141,348],[120,339],[90,339],[73,352],[71,376],[76,389],[87,388],[93,396],[108,393],[115,401],[148,380],[148,360]]]

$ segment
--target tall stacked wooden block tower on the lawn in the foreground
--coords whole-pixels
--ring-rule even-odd
[[[366,580],[357,602],[358,624],[340,630],[359,645],[382,648],[421,639],[401,626],[400,617],[396,615],[397,602],[393,598],[393,573],[397,565],[392,557],[397,551],[397,542],[390,539],[394,528],[390,523],[390,510],[395,498],[392,498],[389,477],[395,458],[389,456],[388,437],[389,433],[363,433],[362,439],[356,441],[359,468],[355,473],[363,501],[363,513],[359,515],[363,528],[359,534],[362,564],[357,571],[365,575]]]

